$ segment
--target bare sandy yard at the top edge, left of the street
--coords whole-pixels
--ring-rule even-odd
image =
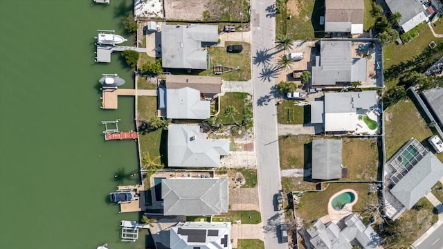
[[[164,0],[165,19],[201,20],[208,2],[210,0]]]

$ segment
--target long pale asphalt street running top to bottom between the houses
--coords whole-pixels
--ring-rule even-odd
[[[275,211],[275,194],[281,190],[275,107],[275,8],[273,0],[251,3],[251,55],[257,152],[258,191],[265,248],[288,248],[280,240],[278,224],[284,213]]]

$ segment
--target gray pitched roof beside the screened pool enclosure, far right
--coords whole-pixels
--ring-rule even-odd
[[[443,163],[432,153],[426,154],[390,192],[406,208],[412,208],[443,177]]]

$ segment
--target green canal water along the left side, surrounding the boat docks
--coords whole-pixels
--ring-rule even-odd
[[[98,79],[118,73],[134,87],[132,70],[115,52],[94,62],[96,29],[123,30],[132,0],[0,1],[0,248],[145,248],[120,241],[109,192],[136,184],[134,141],[105,142],[102,120],[134,129],[134,98],[100,109]],[[115,175],[118,177],[114,177]]]

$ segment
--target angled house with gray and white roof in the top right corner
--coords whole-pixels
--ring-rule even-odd
[[[392,13],[399,12],[401,14],[399,26],[405,33],[426,20],[425,7],[419,0],[385,1]]]

